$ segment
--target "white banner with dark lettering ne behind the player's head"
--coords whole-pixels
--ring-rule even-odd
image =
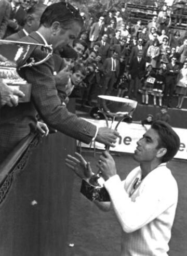
[[[97,125],[97,127],[103,127],[106,126],[105,120],[94,120],[94,119],[86,119],[87,121]],[[117,122],[114,122],[112,127],[115,127]],[[110,121],[109,121],[110,125]],[[146,125],[149,129],[149,125]],[[180,137],[180,149],[177,152],[177,155],[175,158],[180,159],[187,159],[187,136],[186,136],[186,129],[179,129],[179,128],[173,128],[175,132]],[[127,152],[127,153],[133,153],[137,147],[137,141],[142,137],[142,135],[146,132],[145,128],[141,124],[137,123],[125,123],[121,122],[119,124],[117,131],[121,135],[119,139],[117,139],[116,146],[114,148],[110,148],[110,151],[117,151],[117,152]],[[89,148],[90,145],[81,143],[82,147]],[[93,148],[93,143],[91,145],[91,148]],[[96,142],[96,148],[97,149],[103,149],[104,145]]]

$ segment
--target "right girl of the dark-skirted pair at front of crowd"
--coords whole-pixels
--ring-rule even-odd
[[[153,103],[156,106],[156,98],[158,98],[159,107],[162,106],[162,96],[165,86],[165,76],[164,76],[164,69],[159,68],[157,74],[155,75],[155,83],[153,86]]]

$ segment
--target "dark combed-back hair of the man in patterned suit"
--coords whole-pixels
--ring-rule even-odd
[[[64,2],[49,5],[43,12],[40,23],[50,27],[55,21],[63,25],[64,29],[69,29],[73,22],[83,26],[83,19],[79,12],[72,5]]]

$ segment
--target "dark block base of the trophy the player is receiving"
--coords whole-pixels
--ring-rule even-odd
[[[86,180],[82,180],[81,193],[90,201],[109,202],[110,196],[103,186],[93,186]]]

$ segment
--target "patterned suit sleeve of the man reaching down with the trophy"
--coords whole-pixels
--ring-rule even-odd
[[[39,57],[41,59],[41,54]],[[36,61],[39,59],[35,56]],[[47,125],[84,143],[90,143],[96,134],[96,126],[78,118],[61,105],[52,67],[50,58],[41,65],[22,68],[20,71],[20,75],[32,84],[31,97],[35,108]]]

